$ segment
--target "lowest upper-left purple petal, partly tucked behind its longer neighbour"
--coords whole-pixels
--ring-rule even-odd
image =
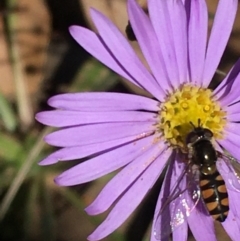
[[[132,76],[119,64],[112,56],[111,52],[102,43],[102,40],[97,34],[89,29],[80,26],[71,26],[69,32],[72,37],[92,56],[108,66],[110,69],[131,81],[133,84],[140,85],[132,78]]]

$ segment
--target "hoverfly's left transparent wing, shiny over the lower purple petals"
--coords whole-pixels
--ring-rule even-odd
[[[201,198],[198,169],[194,170],[192,166],[185,165],[178,178],[173,179],[172,177],[170,183],[165,182],[163,185],[165,188],[163,192],[165,191],[169,195],[166,193],[163,195],[167,197],[154,224],[154,235],[157,240],[164,240],[180,227]],[[169,186],[167,187],[167,185]]]

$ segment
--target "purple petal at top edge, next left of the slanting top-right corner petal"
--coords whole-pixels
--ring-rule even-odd
[[[208,10],[205,0],[191,0],[188,26],[188,45],[191,81],[201,84],[206,45]]]

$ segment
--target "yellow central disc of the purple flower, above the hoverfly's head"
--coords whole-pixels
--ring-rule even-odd
[[[223,138],[226,112],[212,97],[210,89],[183,85],[169,94],[160,106],[157,129],[172,147],[186,150],[185,140],[200,119],[203,128],[210,129],[215,139]]]

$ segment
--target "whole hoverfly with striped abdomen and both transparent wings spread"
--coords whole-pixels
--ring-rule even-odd
[[[229,212],[225,181],[228,181],[228,188],[230,186],[234,191],[240,192],[240,178],[236,172],[240,170],[240,164],[232,156],[222,154],[214,148],[213,133],[201,126],[200,119],[197,127],[190,124],[193,130],[186,138],[188,163],[170,164],[168,170],[177,169],[177,165],[184,166],[181,168],[183,171],[176,175],[177,180],[171,180],[171,171],[169,177],[168,172],[166,173],[165,182],[168,183],[165,185],[170,186],[170,191],[163,194],[162,199],[166,201],[163,202],[154,225],[155,238],[158,240],[166,238],[180,227],[195,208],[216,221],[224,222]],[[229,180],[224,181],[217,169],[217,165],[221,163],[226,164]]]

